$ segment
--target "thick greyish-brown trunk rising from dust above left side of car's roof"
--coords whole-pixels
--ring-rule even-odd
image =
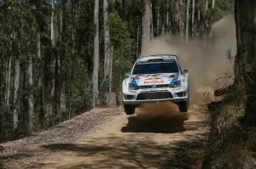
[[[150,25],[151,25],[150,0],[144,0],[142,51],[143,51],[143,48],[145,48],[145,46],[148,44],[150,40]]]

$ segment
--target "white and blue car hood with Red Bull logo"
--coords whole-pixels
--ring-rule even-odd
[[[177,80],[179,80],[179,73],[131,76],[131,83],[135,86],[163,85],[177,82]]]

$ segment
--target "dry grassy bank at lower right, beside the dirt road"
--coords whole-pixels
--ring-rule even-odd
[[[211,134],[204,168],[255,168],[256,128],[243,127],[243,92],[230,93],[209,104]]]

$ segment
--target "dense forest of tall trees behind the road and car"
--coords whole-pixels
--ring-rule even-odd
[[[96,106],[122,104],[124,73],[150,40],[173,35],[179,43],[201,39],[208,48],[212,23],[238,6],[233,0],[1,0],[0,142]]]

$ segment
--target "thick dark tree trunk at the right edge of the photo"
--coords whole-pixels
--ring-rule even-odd
[[[256,126],[256,1],[236,0],[236,63],[246,89],[245,125]],[[252,23],[252,24],[248,24]],[[241,34],[242,32],[242,34]],[[241,70],[242,69],[242,70]],[[237,78],[237,76],[236,76]]]

